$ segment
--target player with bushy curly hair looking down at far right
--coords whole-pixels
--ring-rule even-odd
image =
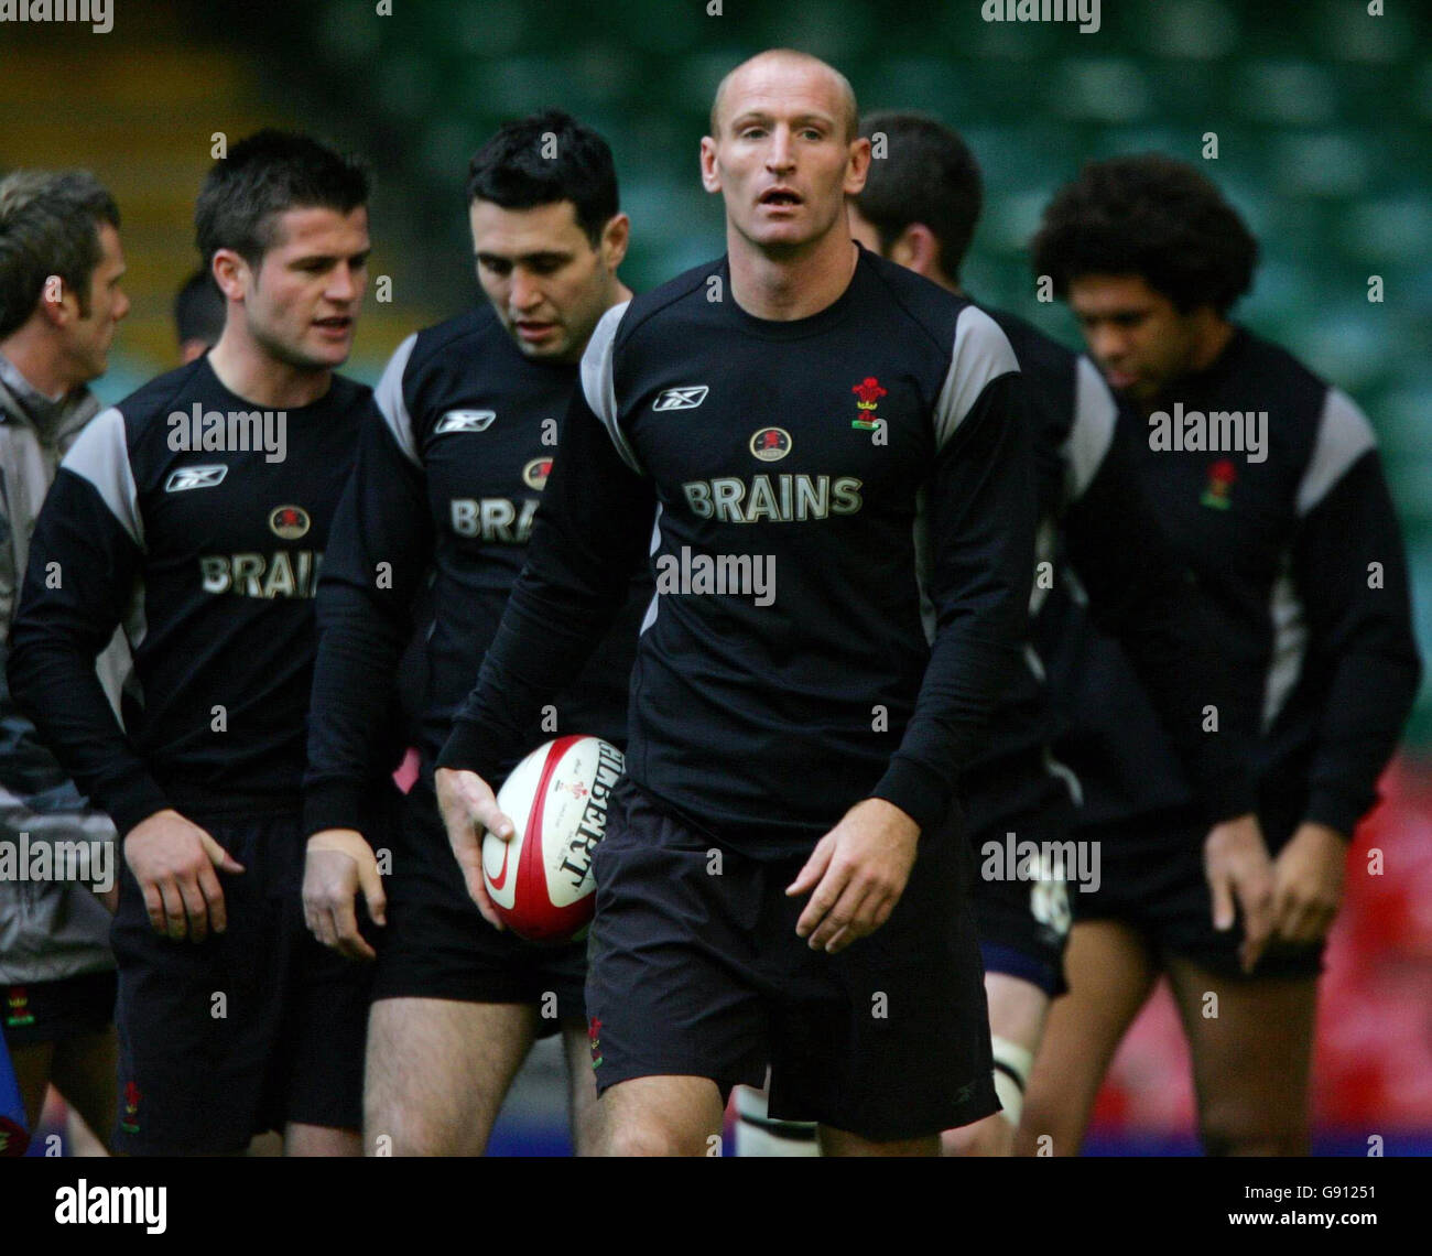
[[[1022,1150],[1078,1150],[1108,1063],[1160,974],[1193,1055],[1210,1154],[1306,1154],[1322,950],[1348,844],[1418,687],[1400,530],[1372,428],[1339,388],[1230,319],[1257,245],[1199,170],[1091,162],[1045,209],[1034,268],[1138,415],[1146,496],[1197,577],[1273,855],[1273,934],[1250,972],[1213,928],[1203,829],[1146,686],[1095,629],[1057,683],[1078,835],[1104,878],[1077,895],[1067,971],[1030,1080]],[[1206,1008],[1216,1000],[1216,1015]]]

